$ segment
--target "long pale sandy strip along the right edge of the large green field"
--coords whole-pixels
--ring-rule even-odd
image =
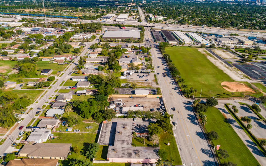
[[[231,68],[228,65],[224,64],[221,60],[217,59],[214,55],[212,55],[206,49],[198,49],[198,50],[202,54],[204,54],[208,58],[208,60],[211,61],[211,63],[213,63],[219,69],[223,70],[224,73],[229,75],[229,77],[231,77],[231,79],[233,79],[235,81],[250,81],[249,79],[243,77],[243,75],[245,75],[245,74],[242,73],[240,70],[237,70],[236,68]],[[207,54],[207,52],[209,54],[211,54],[212,56],[209,56]]]

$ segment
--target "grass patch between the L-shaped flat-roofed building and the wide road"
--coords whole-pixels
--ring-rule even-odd
[[[167,144],[170,143],[168,146]],[[159,146],[160,149],[163,149],[167,152],[168,157],[167,160],[171,161],[174,159],[173,165],[182,165],[182,161],[178,152],[178,148],[175,142],[175,138],[173,136],[173,131],[163,132],[159,138]]]

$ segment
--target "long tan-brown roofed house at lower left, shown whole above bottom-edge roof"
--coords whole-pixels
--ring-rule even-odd
[[[71,145],[71,143],[35,143],[34,145],[24,145],[19,151],[19,156],[66,160]]]

